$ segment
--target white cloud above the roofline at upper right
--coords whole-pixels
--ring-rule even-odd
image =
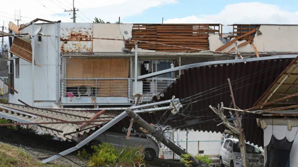
[[[298,24],[298,11],[287,12],[277,5],[261,2],[226,5],[217,15],[192,15],[172,18],[164,23]],[[231,31],[230,26],[224,31]]]

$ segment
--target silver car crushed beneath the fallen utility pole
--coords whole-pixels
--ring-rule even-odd
[[[106,131],[95,137],[92,141],[88,142],[86,145],[99,145],[103,142],[111,143],[115,148],[121,148],[124,146],[137,147],[142,146],[144,149],[145,160],[151,161],[155,157],[158,157],[159,146],[158,144],[150,138],[145,133],[132,133],[130,134],[130,139],[126,139],[127,133],[125,132],[112,132]],[[84,137],[83,137],[84,138]]]

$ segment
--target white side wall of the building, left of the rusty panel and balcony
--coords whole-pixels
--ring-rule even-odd
[[[55,26],[57,24],[36,24],[35,31],[40,29],[39,34],[56,35]],[[22,30],[22,33],[32,34],[32,26]],[[42,41],[38,42],[35,37],[35,63],[41,67],[34,68],[34,101],[35,106],[51,107],[56,102],[56,37],[41,37]],[[13,55],[16,56],[16,55]],[[14,61],[15,65],[15,59]],[[21,104],[18,99],[32,104],[32,64],[26,60],[19,59],[20,76],[16,78],[16,67],[14,66],[14,89],[19,93],[10,94],[9,102]],[[60,69],[60,67],[58,68]],[[60,74],[60,70],[58,72]],[[59,76],[60,77],[60,76]],[[60,88],[59,88],[60,89]],[[60,94],[60,92],[57,92]]]

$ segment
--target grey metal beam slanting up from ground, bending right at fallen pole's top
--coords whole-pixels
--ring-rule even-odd
[[[161,104],[170,103],[171,101],[172,100],[165,100],[165,101],[161,101],[161,102],[154,102],[154,103],[149,103],[149,104],[144,104],[144,105],[132,106],[132,107],[130,107],[130,109],[139,109],[139,108],[142,108],[142,107],[149,107],[149,106],[154,106],[154,105],[161,105]],[[174,101],[179,101],[179,99],[174,99]],[[136,111],[136,113],[139,113],[139,112]],[[112,127],[113,125],[115,125],[117,122],[119,122],[120,120],[122,120],[126,116],[127,116],[126,112],[123,111],[121,114],[117,115],[110,122],[106,123],[106,125],[103,125],[100,129],[98,129],[97,131],[95,131],[94,133],[92,133],[92,135],[88,136],[85,140],[83,140],[82,142],[78,143],[75,147],[71,147],[70,149],[67,149],[65,151],[62,151],[62,152],[59,153],[59,155],[51,156],[50,158],[47,158],[47,159],[43,160],[42,163],[50,162],[50,161],[52,161],[54,159],[57,159],[57,158],[61,157],[61,155],[63,156],[63,155],[67,155],[67,154],[69,154],[71,152],[74,152],[75,150],[81,148],[82,146],[84,146],[85,144],[87,144],[89,141],[91,141],[92,139],[94,139],[96,136],[100,135],[102,132],[105,132],[107,129],[109,129],[110,127]]]

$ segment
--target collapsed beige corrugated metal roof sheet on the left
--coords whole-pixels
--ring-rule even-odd
[[[27,107],[24,105],[16,104],[3,104],[0,103],[0,117],[6,119],[17,120],[17,122],[22,123],[40,123],[40,122],[64,122],[64,121],[88,121],[92,118],[96,112],[88,111],[75,111],[75,110],[51,110],[51,109],[40,109]],[[63,123],[63,124],[42,124],[42,125],[28,125],[29,128],[37,129],[40,132],[44,131],[51,135],[56,135],[63,140],[72,139],[77,137],[78,134],[83,135],[84,132],[89,132],[89,130],[94,130],[95,125],[100,126],[114,118],[114,115],[102,114],[95,120],[100,122],[92,122],[87,125],[84,131],[76,132],[83,123]],[[90,129],[88,129],[90,128]],[[65,135],[71,132],[75,132],[69,135]]]

